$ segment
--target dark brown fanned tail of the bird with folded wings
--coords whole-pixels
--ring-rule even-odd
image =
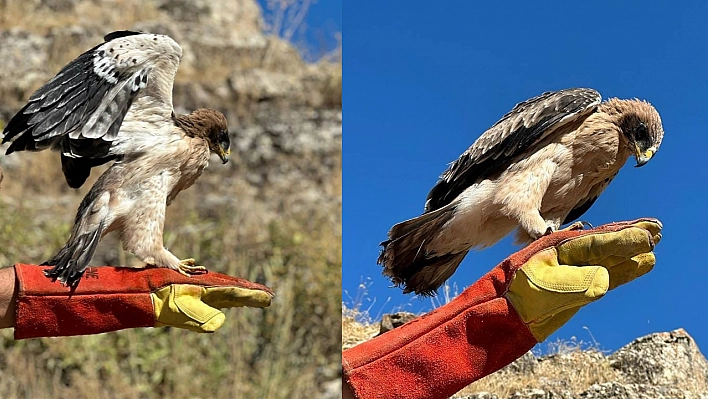
[[[467,255],[468,251],[438,254],[425,247],[426,240],[453,217],[456,207],[454,202],[398,223],[388,232],[389,239],[381,243],[383,250],[377,263],[383,265],[383,274],[395,285],[403,286],[404,293],[434,295]]]

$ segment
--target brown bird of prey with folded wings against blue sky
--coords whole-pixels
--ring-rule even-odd
[[[646,164],[663,135],[648,102],[601,102],[592,89],[519,103],[450,164],[422,215],[391,228],[378,263],[405,293],[433,295],[470,249],[514,229],[527,243],[578,219],[630,156]]]

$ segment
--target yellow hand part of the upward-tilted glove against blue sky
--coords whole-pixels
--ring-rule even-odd
[[[506,297],[538,342],[581,307],[654,267],[661,222],[645,219],[603,230],[606,226],[534,254],[516,272]]]

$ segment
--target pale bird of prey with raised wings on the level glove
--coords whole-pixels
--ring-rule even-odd
[[[175,115],[172,86],[182,48],[168,36],[118,31],[40,87],[10,120],[2,142],[15,151],[61,152],[66,181],[78,188],[92,167],[114,163],[79,206],[71,236],[45,274],[75,287],[99,240],[116,231],[148,265],[204,271],[163,245],[165,208],[191,186],[211,153],[230,153],[226,118],[198,109]]]

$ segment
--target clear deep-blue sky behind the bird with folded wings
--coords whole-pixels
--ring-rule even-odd
[[[378,243],[417,216],[447,164],[517,102],[591,87],[650,101],[665,137],[643,168],[630,160],[583,217],[595,225],[664,222],[648,275],[582,309],[550,340],[614,350],[685,328],[708,350],[708,265],[701,260],[708,162],[708,3],[351,1],[343,10],[343,300],[368,286],[373,316],[431,308],[381,276]],[[506,239],[470,253],[452,277],[469,286],[519,249]],[[375,302],[373,302],[375,301]],[[589,331],[589,332],[588,332]],[[592,334],[592,336],[590,335]]]

